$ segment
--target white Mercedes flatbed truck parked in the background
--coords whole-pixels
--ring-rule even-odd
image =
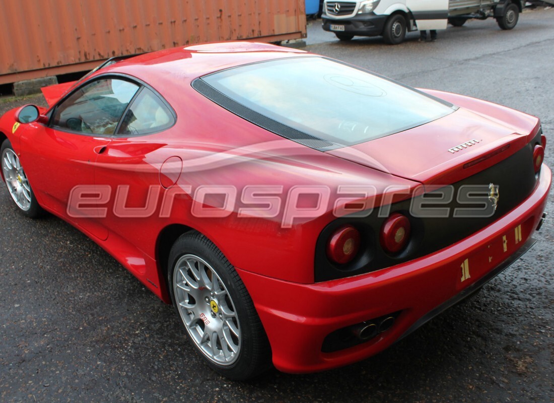
[[[469,18],[493,17],[500,28],[512,29],[524,6],[521,0],[326,0],[321,18],[323,29],[340,40],[382,35],[398,44],[406,32],[461,27]]]

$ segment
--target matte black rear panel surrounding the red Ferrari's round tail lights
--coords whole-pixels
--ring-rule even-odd
[[[540,141],[540,134],[537,136],[538,141]],[[373,272],[407,262],[437,252],[455,242],[461,241],[461,239],[478,232],[480,229],[498,220],[529,197],[536,187],[537,177],[532,158],[532,147],[534,147],[535,143],[535,140],[531,141],[523,149],[500,161],[498,164],[454,183],[453,201],[449,204],[440,205],[440,207],[450,207],[449,218],[413,217],[410,214],[411,199],[391,205],[391,214],[394,212],[402,213],[409,218],[412,226],[412,237],[408,246],[395,256],[385,253],[379,244],[379,232],[386,218],[378,217],[378,207],[367,217],[345,216],[333,221],[324,228],[317,240],[314,262],[315,281],[321,282],[356,276],[357,274]],[[468,207],[459,205],[456,201],[456,194],[460,186],[488,186],[490,183],[499,187],[500,196],[493,216],[486,218],[452,217],[452,212],[456,207]],[[353,225],[360,231],[362,244],[366,247],[361,248],[360,253],[352,262],[345,265],[337,265],[327,258],[325,247],[327,239],[329,239],[331,234],[338,227],[346,224]]]

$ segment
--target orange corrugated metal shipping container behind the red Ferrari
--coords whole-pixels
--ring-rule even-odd
[[[305,0],[0,0],[0,84],[201,42],[306,37]]]

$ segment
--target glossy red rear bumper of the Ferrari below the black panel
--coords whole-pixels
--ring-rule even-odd
[[[365,359],[470,295],[530,248],[551,180],[543,166],[531,195],[499,220],[438,252],[377,272],[297,284],[237,268],[268,334],[275,367],[305,373]],[[393,326],[375,338],[322,351],[330,333],[394,312]]]

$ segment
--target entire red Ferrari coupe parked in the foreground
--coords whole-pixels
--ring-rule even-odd
[[[87,234],[232,379],[376,354],[545,217],[537,118],[300,50],[162,50],[43,91],[0,119],[18,210]]]

